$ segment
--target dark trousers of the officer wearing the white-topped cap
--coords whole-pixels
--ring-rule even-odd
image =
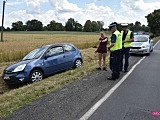
[[[124,70],[128,69],[128,66],[129,66],[129,57],[130,57],[129,51],[130,51],[130,47],[127,47],[127,48],[123,47],[121,49],[120,71],[123,70],[123,56],[125,56]]]

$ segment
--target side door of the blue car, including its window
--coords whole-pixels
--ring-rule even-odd
[[[44,66],[47,74],[65,69],[65,54],[62,46],[50,48],[45,55]]]

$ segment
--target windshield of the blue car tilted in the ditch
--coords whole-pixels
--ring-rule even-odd
[[[36,59],[39,58],[40,55],[44,52],[45,47],[37,48],[35,50],[32,50],[30,53],[28,53],[23,60],[31,60],[31,59]]]

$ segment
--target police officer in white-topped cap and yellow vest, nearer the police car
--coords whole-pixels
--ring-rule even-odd
[[[131,42],[134,41],[133,32],[128,29],[128,24],[121,24],[122,26],[122,50],[121,50],[121,62],[120,71],[124,69],[124,72],[128,72],[129,57],[130,57],[130,47]],[[123,57],[125,58],[125,63],[123,65]]]

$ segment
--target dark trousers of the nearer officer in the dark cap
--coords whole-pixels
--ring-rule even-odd
[[[112,78],[119,77],[121,50],[115,50],[110,52],[110,69],[112,71]]]

